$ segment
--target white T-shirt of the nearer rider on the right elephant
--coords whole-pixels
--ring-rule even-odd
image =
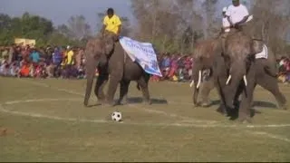
[[[229,5],[227,7],[226,15],[229,16],[229,19],[233,24],[237,24],[238,22],[243,20],[245,16],[248,15],[247,7],[242,4],[238,6]]]

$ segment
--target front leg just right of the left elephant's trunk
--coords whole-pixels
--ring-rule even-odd
[[[99,67],[99,77],[97,79],[94,94],[97,96],[98,101],[101,103],[105,101],[105,94],[103,92],[103,88],[109,80],[109,73],[106,68]]]

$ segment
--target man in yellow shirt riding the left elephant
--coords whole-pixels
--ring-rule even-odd
[[[106,30],[120,35],[121,19],[117,14],[114,14],[114,10],[112,8],[107,10],[107,15],[103,18],[102,24],[102,34],[104,33],[104,30]]]

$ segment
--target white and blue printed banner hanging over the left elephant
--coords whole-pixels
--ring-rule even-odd
[[[133,62],[138,62],[145,72],[162,77],[157,56],[151,43],[140,43],[129,37],[121,37],[122,48]]]

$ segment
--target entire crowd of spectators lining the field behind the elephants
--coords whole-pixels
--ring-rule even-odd
[[[0,75],[32,78],[85,78],[84,49],[81,47],[47,46],[34,48],[13,44],[0,47]],[[163,77],[153,75],[151,81],[189,81],[193,59],[190,55],[161,53],[158,55]],[[278,80],[290,82],[290,60],[282,57],[277,61]],[[96,76],[98,71],[96,70]]]

